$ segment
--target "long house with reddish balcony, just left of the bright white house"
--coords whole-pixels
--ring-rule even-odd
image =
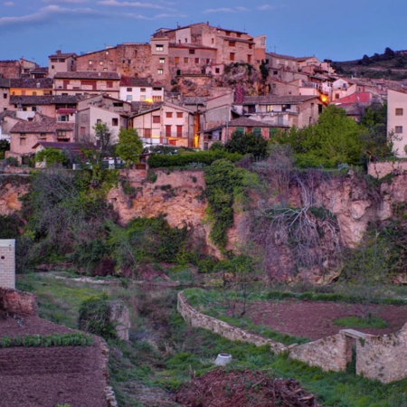
[[[57,72],[53,77],[55,95],[106,93],[118,98],[120,75],[117,72],[71,71]]]

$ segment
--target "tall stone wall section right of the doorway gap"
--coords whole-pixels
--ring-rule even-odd
[[[383,383],[407,376],[407,324],[391,335],[364,336],[356,342],[356,374]]]

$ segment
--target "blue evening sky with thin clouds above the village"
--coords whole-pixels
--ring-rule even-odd
[[[209,22],[266,34],[267,49],[348,61],[407,49],[405,0],[0,0],[0,60],[147,43],[160,27]]]

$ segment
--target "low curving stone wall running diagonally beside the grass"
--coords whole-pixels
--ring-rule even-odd
[[[249,342],[256,346],[270,345],[271,350],[276,354],[288,349],[286,345],[279,344],[279,342],[274,342],[271,339],[259,335],[253,335],[244,329],[232,327],[232,325],[220,321],[219,319],[199,313],[186,302],[186,298],[182,292],[178,293],[177,309],[182,317],[184,317],[186,323],[192,327],[209,329],[215,334],[219,334],[231,341]]]

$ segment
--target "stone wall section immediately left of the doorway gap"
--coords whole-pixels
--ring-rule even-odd
[[[289,357],[322,370],[339,372],[345,370],[352,360],[352,344],[343,333],[298,345],[290,349]]]

